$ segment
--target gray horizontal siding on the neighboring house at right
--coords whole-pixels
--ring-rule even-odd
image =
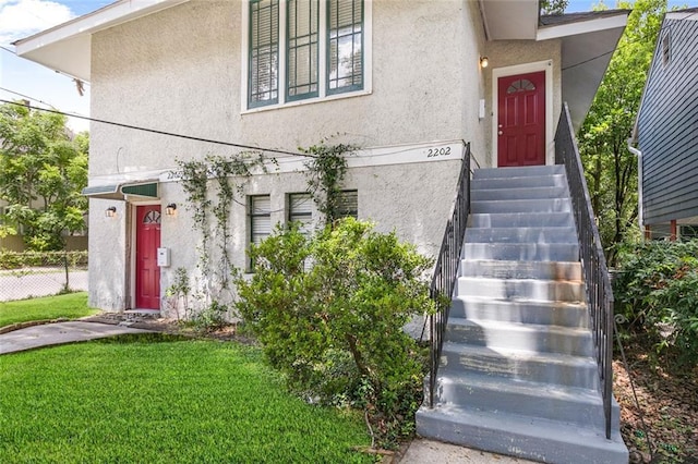
[[[638,118],[646,224],[698,216],[698,21],[665,20]],[[670,35],[664,64],[662,40]]]

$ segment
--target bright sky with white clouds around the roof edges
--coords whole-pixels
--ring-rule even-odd
[[[81,97],[71,77],[15,57],[11,52],[14,51],[11,42],[111,2],[112,0],[0,0],[0,98],[16,100],[28,97],[34,106],[89,115],[88,84]],[[569,0],[566,11],[591,11],[597,3],[599,0]],[[606,0],[604,3],[613,8],[615,0]],[[698,7],[698,0],[670,0],[670,8],[674,5]],[[89,123],[71,119],[69,126],[81,132],[88,130]]]

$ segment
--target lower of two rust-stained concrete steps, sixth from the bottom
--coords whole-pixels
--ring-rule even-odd
[[[456,295],[514,301],[585,302],[586,289],[579,280],[459,277],[456,282]]]

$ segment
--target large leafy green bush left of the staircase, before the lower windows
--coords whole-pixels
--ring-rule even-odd
[[[312,237],[277,229],[251,255],[237,307],[291,388],[364,408],[384,445],[411,432],[426,356],[402,328],[433,310],[430,259],[353,219]]]

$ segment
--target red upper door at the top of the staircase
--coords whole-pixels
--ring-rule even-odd
[[[500,77],[497,166],[545,164],[545,72]]]

